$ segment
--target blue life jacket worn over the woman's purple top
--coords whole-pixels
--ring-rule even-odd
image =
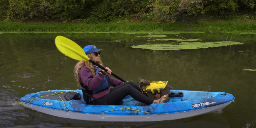
[[[96,74],[98,74],[98,72],[100,71],[99,69],[101,69],[101,68],[99,68],[99,67],[94,67],[94,68],[96,69]],[[100,91],[104,91],[104,90],[108,89],[109,86],[110,86],[110,83],[109,83],[109,81],[108,81],[108,75],[105,74],[105,75],[104,75],[103,82],[102,82],[101,85],[98,86],[96,89],[93,89],[93,93],[97,93],[97,92],[100,92]]]

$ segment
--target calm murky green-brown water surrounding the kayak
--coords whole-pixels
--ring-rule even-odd
[[[20,105],[26,94],[61,89],[80,89],[73,68],[78,62],[55,46],[58,35],[81,47],[95,45],[105,67],[126,81],[167,80],[174,90],[227,92],[235,96],[222,111],[181,120],[161,122],[93,122],[55,117]],[[230,41],[244,44],[190,50],[129,48],[167,37],[137,37],[148,34],[123,33],[3,33],[0,34],[0,127],[256,127],[256,36],[255,34],[178,34],[199,42]],[[180,38],[180,37],[179,37]],[[198,42],[198,41],[197,41]],[[249,71],[247,69],[251,69]]]

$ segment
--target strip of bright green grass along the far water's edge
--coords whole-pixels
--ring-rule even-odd
[[[20,23],[0,22],[0,32],[223,32],[223,33],[255,33],[256,23],[239,23],[237,21],[204,22],[198,24],[157,23],[157,22],[117,22],[106,24],[80,23]]]

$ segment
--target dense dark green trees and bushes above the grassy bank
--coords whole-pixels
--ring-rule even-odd
[[[96,24],[123,19],[173,23],[181,14],[232,15],[238,9],[255,12],[255,4],[256,0],[0,0],[0,20],[81,19]]]

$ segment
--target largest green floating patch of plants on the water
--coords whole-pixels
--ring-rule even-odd
[[[181,50],[181,49],[201,49],[201,48],[213,48],[227,45],[243,44],[234,41],[218,41],[218,42],[181,42],[175,44],[145,44],[131,46],[131,48],[151,49],[151,50]]]

